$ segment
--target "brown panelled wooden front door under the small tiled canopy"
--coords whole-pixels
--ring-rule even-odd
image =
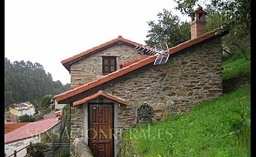
[[[94,157],[114,156],[113,120],[112,105],[89,105],[88,141]]]

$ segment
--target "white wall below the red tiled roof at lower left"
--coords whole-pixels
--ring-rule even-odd
[[[9,143],[9,144],[5,145],[5,154],[7,156],[9,156],[14,153],[14,150],[18,151],[18,150],[26,147],[27,145],[30,145],[30,142],[39,143],[39,142],[41,142],[41,138],[40,137],[32,137],[30,139],[24,139],[22,141]],[[25,156],[26,154],[27,154],[27,149],[24,148],[23,150],[21,150],[20,152],[17,153],[17,157],[22,157],[22,156]]]

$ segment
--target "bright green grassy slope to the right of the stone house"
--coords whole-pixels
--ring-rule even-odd
[[[242,53],[223,57],[223,79],[250,75],[250,61]],[[186,114],[131,128],[123,133],[119,156],[251,156],[250,99],[249,87],[238,88]]]

